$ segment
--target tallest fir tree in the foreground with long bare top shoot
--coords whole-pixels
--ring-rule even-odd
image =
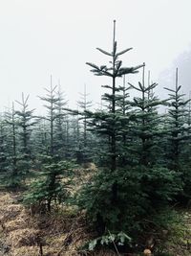
[[[122,67],[122,61],[118,60],[118,57],[131,49],[117,52],[116,21],[114,21],[112,53],[97,48],[99,52],[112,58],[112,61],[110,61],[112,65],[109,67],[101,65],[99,67],[94,63],[87,62],[93,68],[91,71],[96,76],[106,76],[112,80],[112,85],[103,85],[105,89],[109,90],[108,93],[102,96],[102,101],[106,105],[105,109],[96,112],[86,111],[87,117],[92,120],[92,127],[97,136],[100,136],[106,142],[106,146],[103,148],[105,151],[101,151],[101,148],[97,149],[104,157],[105,163],[102,166],[104,168],[99,168],[99,173],[95,176],[93,183],[90,186],[87,185],[85,191],[82,192],[83,207],[87,207],[88,212],[94,216],[92,218],[96,220],[101,233],[104,232],[106,226],[115,229],[120,221],[124,221],[122,219],[126,211],[123,207],[129,198],[129,189],[124,192],[126,172],[124,169],[118,168],[121,141],[124,138],[123,124],[126,116],[124,116],[124,112],[118,111],[119,102],[122,98],[121,92],[124,91],[124,88],[117,86],[117,78],[126,74],[137,73],[142,66]],[[135,188],[133,191],[135,191]]]

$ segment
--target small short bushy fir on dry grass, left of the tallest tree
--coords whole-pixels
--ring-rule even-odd
[[[25,195],[24,203],[44,206],[44,211],[50,212],[53,202],[59,204],[69,197],[72,170],[66,161],[57,161],[51,156],[43,158],[42,169]]]

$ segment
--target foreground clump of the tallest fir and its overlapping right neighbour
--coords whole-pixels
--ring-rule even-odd
[[[153,92],[157,83],[145,85],[144,64],[122,67],[118,57],[131,48],[117,53],[115,34],[116,23],[112,53],[97,48],[112,58],[111,66],[87,63],[96,76],[110,77],[112,85],[103,86],[109,91],[102,97],[105,108],[86,111],[93,131],[105,146],[97,150],[102,154],[99,170],[82,188],[78,204],[87,210],[100,234],[109,229],[136,238],[144,228],[143,220],[180,192],[180,175],[159,165],[162,162],[159,139],[164,132],[159,127],[158,106],[165,102]],[[130,87],[124,81],[123,86],[117,86],[117,78],[137,73],[140,67],[143,67],[142,82],[138,86],[129,84],[140,97],[130,101]]]

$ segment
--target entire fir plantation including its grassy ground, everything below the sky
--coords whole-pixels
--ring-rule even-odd
[[[45,114],[24,93],[2,113],[2,255],[191,255],[191,99],[178,68],[159,99],[116,37],[114,21],[112,49],[96,48],[108,62],[86,63],[110,81],[98,107],[84,86],[69,108],[51,76]]]

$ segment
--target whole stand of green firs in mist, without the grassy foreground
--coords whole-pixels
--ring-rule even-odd
[[[100,105],[94,108],[84,86],[77,109],[69,109],[51,78],[39,96],[46,114],[35,115],[24,94],[2,113],[1,180],[8,188],[23,188],[24,203],[38,211],[74,204],[98,234],[109,229],[135,238],[161,208],[191,197],[190,99],[181,94],[178,69],[174,88],[164,88],[168,97],[159,99],[145,63],[123,66],[120,57],[132,48],[118,51],[116,22],[112,51],[97,51],[109,59],[101,66],[87,62],[93,75],[110,80],[102,85]],[[128,82],[138,72],[141,81]],[[96,172],[72,193],[75,170],[90,162]]]

